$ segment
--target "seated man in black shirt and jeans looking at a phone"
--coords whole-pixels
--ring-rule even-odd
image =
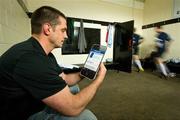
[[[67,38],[65,15],[40,7],[32,14],[31,28],[31,38],[0,57],[0,119],[96,120],[85,107],[103,82],[104,65],[91,84],[72,94],[68,86],[81,80],[79,73],[64,74],[51,53]],[[48,108],[40,111],[44,105]]]

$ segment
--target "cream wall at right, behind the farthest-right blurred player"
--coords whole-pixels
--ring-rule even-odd
[[[151,24],[168,19],[172,19],[173,0],[146,0],[144,6],[144,24]],[[169,52],[164,56],[164,60],[170,58],[179,58],[180,55],[180,23],[164,25],[163,29],[174,40],[170,46]],[[141,45],[140,56],[145,58],[154,50],[154,28],[143,29],[144,43]]]

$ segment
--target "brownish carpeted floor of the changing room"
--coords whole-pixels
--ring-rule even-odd
[[[80,88],[90,82],[83,80]],[[180,78],[164,79],[152,71],[108,70],[87,108],[98,120],[180,120]]]

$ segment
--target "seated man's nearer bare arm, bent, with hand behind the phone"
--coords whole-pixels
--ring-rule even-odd
[[[73,95],[68,86],[58,93],[43,99],[43,102],[62,114],[76,116],[80,114],[86,105],[92,100],[100,87],[106,74],[106,68],[101,64],[97,78],[78,94]]]

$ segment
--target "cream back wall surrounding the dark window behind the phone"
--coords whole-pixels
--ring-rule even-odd
[[[28,2],[28,1],[27,1]],[[39,4],[41,2],[41,4]],[[142,34],[141,26],[143,23],[143,10],[124,7],[121,5],[100,2],[99,0],[59,0],[59,2],[47,2],[31,0],[28,3],[29,10],[34,11],[41,5],[53,6],[68,17],[92,19],[107,22],[125,22],[135,19],[137,32]],[[105,44],[106,26],[101,26],[101,44]],[[108,48],[104,57],[112,58],[113,48]],[[82,64],[86,60],[87,55],[61,55],[61,49],[53,51],[58,63],[65,64]]]

